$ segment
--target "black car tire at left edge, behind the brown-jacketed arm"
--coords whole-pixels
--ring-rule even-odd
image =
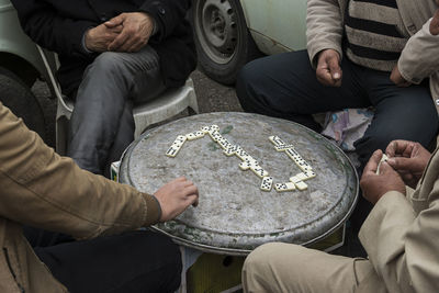
[[[10,70],[0,67],[0,101],[24,124],[46,138],[44,112],[31,89]]]

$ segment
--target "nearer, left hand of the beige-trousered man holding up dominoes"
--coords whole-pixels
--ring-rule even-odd
[[[380,149],[373,153],[368,165],[364,167],[360,180],[360,187],[363,191],[364,199],[373,204],[389,191],[398,191],[405,194],[405,184],[403,180],[386,161],[381,164],[380,174],[376,174],[376,168],[382,156],[383,153]]]

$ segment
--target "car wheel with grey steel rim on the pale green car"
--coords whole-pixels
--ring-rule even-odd
[[[234,84],[240,68],[259,56],[239,0],[193,0],[191,13],[200,69]]]

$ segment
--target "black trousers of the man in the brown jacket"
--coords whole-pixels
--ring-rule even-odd
[[[75,241],[24,227],[35,253],[69,292],[175,292],[181,256],[172,240],[151,230]]]

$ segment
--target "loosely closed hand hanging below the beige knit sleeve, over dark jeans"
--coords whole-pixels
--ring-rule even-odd
[[[337,50],[325,49],[318,54],[317,80],[328,87],[341,86],[340,55]]]

